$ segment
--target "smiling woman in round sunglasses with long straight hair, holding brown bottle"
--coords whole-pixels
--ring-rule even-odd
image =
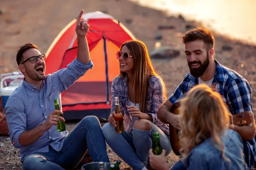
[[[166,155],[172,150],[169,126],[157,118],[157,110],[166,100],[166,88],[143,42],[125,42],[117,51],[116,58],[120,63],[120,75],[113,79],[111,85],[111,114],[102,131],[108,145],[120,158],[134,170],[146,170],[154,132],[160,134]],[[115,97],[122,105],[123,133],[115,131]]]

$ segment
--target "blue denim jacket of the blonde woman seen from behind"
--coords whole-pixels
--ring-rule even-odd
[[[216,149],[210,137],[189,153],[184,162],[187,170],[249,170],[244,161],[239,133],[227,129],[221,142],[224,144],[224,155],[230,162],[222,158],[221,151]]]

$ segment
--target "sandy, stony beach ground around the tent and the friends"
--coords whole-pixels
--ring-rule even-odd
[[[20,45],[33,43],[41,53],[46,53],[58,33],[77,17],[81,9],[84,12],[102,11],[112,15],[137,39],[145,42],[149,51],[153,50],[156,42],[179,51],[180,55],[175,58],[152,58],[155,68],[166,82],[168,95],[172,94],[189,71],[180,39],[189,29],[203,26],[196,21],[188,21],[182,16],[166,16],[164,11],[139,6],[128,0],[0,0],[0,74],[18,71],[15,58]],[[169,26],[171,29],[159,29],[161,26]],[[162,39],[156,40],[160,35]],[[253,89],[252,105],[255,114],[256,45],[221,34],[214,33],[214,37],[215,59],[244,76]],[[68,131],[76,124],[68,123]],[[107,151],[112,162],[119,159],[110,147]],[[0,136],[0,169],[22,169],[19,157],[19,151],[12,146],[10,137]],[[171,167],[178,158],[171,153],[167,160]],[[124,162],[121,167],[122,170],[130,169]]]

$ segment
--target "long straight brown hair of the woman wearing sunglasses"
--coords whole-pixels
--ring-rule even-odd
[[[130,51],[130,55],[134,59],[134,78],[132,80],[134,85],[134,93],[135,93],[135,102],[139,102],[140,104],[140,111],[145,113],[147,111],[147,95],[148,95],[148,84],[149,84],[149,77],[160,75],[157,74],[154,66],[151,63],[148,50],[146,45],[139,40],[131,40],[127,41],[121,45],[120,51],[122,47],[126,45]],[[126,73],[120,71],[120,76],[125,77]],[[166,97],[166,86],[163,82],[162,77],[160,77],[163,86],[163,97],[164,100],[167,99]]]

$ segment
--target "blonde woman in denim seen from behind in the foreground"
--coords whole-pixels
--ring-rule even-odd
[[[171,170],[244,170],[243,142],[229,129],[230,112],[221,95],[207,85],[196,85],[180,106],[180,145],[183,159]],[[253,117],[252,117],[253,119]],[[150,150],[151,167],[168,170],[165,157]],[[163,152],[164,153],[164,152]]]

